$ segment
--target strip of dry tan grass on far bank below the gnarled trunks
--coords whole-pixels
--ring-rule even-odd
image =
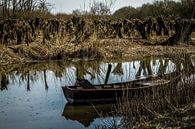
[[[48,60],[123,59],[195,53],[195,46],[144,45],[144,40],[101,39],[82,43],[39,43],[0,46],[0,65]]]

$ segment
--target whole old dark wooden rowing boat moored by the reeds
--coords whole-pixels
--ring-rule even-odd
[[[152,94],[152,92],[155,92],[155,88],[164,88],[164,86],[177,84],[180,78],[180,72],[173,72],[155,77],[148,76],[145,79],[130,82],[102,85],[92,85],[85,79],[78,79],[75,86],[64,86],[62,89],[67,101],[71,104],[107,103],[116,102],[125,93],[128,93],[128,97],[140,95],[142,92]]]

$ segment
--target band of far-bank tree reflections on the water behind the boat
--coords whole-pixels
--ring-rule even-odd
[[[183,74],[185,72],[185,76],[191,76],[195,73],[193,61],[191,55],[180,55],[167,56],[166,58],[146,58],[124,63],[113,60],[112,62],[61,61],[8,65],[0,68],[0,83],[1,90],[7,89],[7,85],[11,81],[12,83],[18,83],[18,85],[24,83],[27,91],[30,91],[33,83],[42,77],[45,90],[48,90],[48,74],[54,81],[60,79],[63,80],[63,83],[71,82],[68,83],[71,85],[74,85],[76,78],[85,78],[92,83],[103,83],[108,64],[115,66],[110,74],[109,83],[130,81],[154,74],[162,75],[175,70],[181,71]]]

